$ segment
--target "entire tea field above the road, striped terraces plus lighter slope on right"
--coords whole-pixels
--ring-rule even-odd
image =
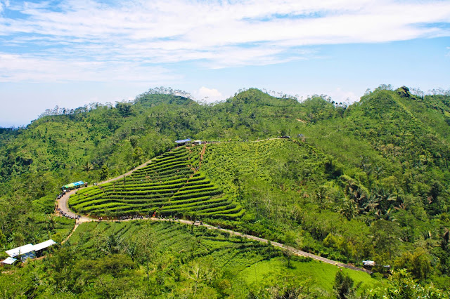
[[[88,187],[72,195],[76,213],[94,216],[172,215],[236,219],[236,177],[274,184],[281,170],[314,170],[322,154],[289,140],[223,142],[179,147],[153,159],[122,179]],[[279,182],[278,182],[279,183]]]

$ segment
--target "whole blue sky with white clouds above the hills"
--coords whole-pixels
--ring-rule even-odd
[[[450,0],[0,0],[0,126],[45,109],[241,88],[354,102],[450,88]]]

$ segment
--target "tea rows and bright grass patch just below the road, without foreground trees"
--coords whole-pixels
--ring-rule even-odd
[[[203,273],[225,272],[226,285],[230,288],[229,295],[233,298],[247,297],[242,293],[233,295],[233,290],[242,288],[243,284],[248,287],[271,285],[274,283],[274,277],[308,279],[323,288],[321,292],[326,291],[329,294],[333,292],[333,282],[338,271],[348,274],[356,283],[361,283],[360,291],[380,284],[368,273],[309,258],[293,257],[291,263],[294,266],[289,268],[286,267],[280,248],[227,232],[176,222],[87,222],[72,234],[70,244],[77,246],[77,250],[82,251],[84,256],[96,258],[99,252],[130,252],[129,248],[135,246],[136,251],[131,252],[136,260],[142,256],[139,249],[141,244],[152,246],[155,268],[158,265],[158,269],[154,270],[155,276],[158,272],[158,277],[162,277],[161,273],[165,274],[165,279],[158,281],[158,285],[166,283],[174,288],[180,281],[184,283],[183,288],[179,290],[181,293],[174,295],[176,298],[186,293],[189,270],[198,265]],[[98,248],[102,248],[102,251]],[[328,297],[323,295],[320,298]]]

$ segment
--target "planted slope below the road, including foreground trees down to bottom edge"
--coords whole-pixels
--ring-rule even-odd
[[[20,297],[26,288],[30,298],[333,295],[337,267],[296,257],[291,263],[287,267],[283,252],[269,244],[205,227],[147,220],[88,222],[49,257],[27,263],[14,277],[0,275],[0,292],[5,298]],[[367,273],[342,271],[361,284],[361,291],[380,284]]]

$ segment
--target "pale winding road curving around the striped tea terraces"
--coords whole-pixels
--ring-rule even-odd
[[[278,139],[278,138],[274,138],[274,139]],[[257,140],[257,141],[259,141],[259,140]],[[143,167],[147,166],[147,164],[150,163],[150,161],[152,161],[153,159],[155,159],[155,157],[153,157],[152,159],[146,161],[145,163],[137,166],[136,168],[132,169],[131,171],[128,171],[127,173],[124,173],[122,175],[117,176],[116,178],[111,178],[109,180],[105,180],[103,182],[99,182],[98,185],[104,184],[106,182],[113,182],[114,180],[119,180],[121,178],[124,178],[124,176],[131,175],[131,173],[133,173],[133,171],[136,171],[139,168],[143,168]],[[70,210],[69,204],[68,204],[70,195],[75,194],[75,192],[77,192],[79,190],[82,190],[82,189],[84,189],[84,187],[83,188],[79,188],[79,189],[75,189],[75,190],[71,190],[70,192],[67,192],[66,194],[64,194],[63,197],[61,197],[60,199],[56,200],[56,215],[59,214],[58,213],[58,208],[60,208],[60,211],[63,211],[63,213],[65,213],[66,215],[72,216],[73,218],[77,218],[79,216],[79,218],[77,219],[77,222],[75,222],[75,227],[73,228],[72,232],[69,234],[69,236],[62,243],[65,243],[65,241],[68,241],[68,239],[72,236],[72,234],[77,229],[78,225],[82,224],[83,222],[98,221],[98,219],[91,218],[91,217],[89,217],[87,215],[76,214],[76,213],[73,213]],[[122,221],[138,220],[138,219],[139,218],[135,218],[135,219],[131,218],[131,219],[126,219],[126,220],[115,220],[115,221],[122,222]],[[186,225],[194,225],[193,221],[184,220],[184,219],[172,220],[172,219],[154,218],[154,217],[152,217],[152,218],[141,218],[141,219],[142,220],[151,220],[151,221],[175,221],[175,222],[179,222],[179,223],[184,223]],[[114,220],[103,220],[103,221],[111,221],[112,222]],[[244,237],[244,238],[255,240],[255,241],[259,241],[259,242],[269,243],[268,239],[255,237],[255,236],[252,236],[251,234],[243,234],[241,232],[235,232],[233,230],[226,230],[226,229],[223,229],[223,228],[218,228],[218,227],[214,227],[212,225],[207,225],[207,224],[204,224],[202,226],[206,227],[209,230],[220,230],[222,232],[228,232],[229,234],[234,235],[234,236],[240,236],[240,237]],[[328,264],[331,264],[331,265],[336,265],[338,267],[344,267],[344,268],[351,269],[351,270],[366,272],[368,274],[372,273],[371,271],[366,270],[364,268],[359,268],[359,267],[355,267],[353,265],[340,263],[340,262],[335,261],[335,260],[330,260],[328,258],[323,258],[322,256],[315,255],[315,254],[312,254],[312,253],[307,253],[306,251],[301,251],[300,249],[297,249],[297,248],[294,248],[294,247],[291,247],[291,246],[285,246],[284,244],[281,244],[281,243],[278,243],[278,242],[270,241],[270,243],[271,243],[271,245],[276,246],[278,248],[283,248],[285,250],[288,250],[288,251],[292,252],[294,255],[304,256],[306,258],[312,258],[314,260],[319,260],[319,261],[321,261],[323,263],[328,263]]]

